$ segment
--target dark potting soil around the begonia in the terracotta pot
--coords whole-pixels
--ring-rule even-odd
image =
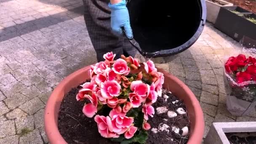
[[[72,88],[69,93],[64,97],[61,102],[61,108],[58,117],[58,128],[61,136],[69,144],[118,144],[117,142],[110,141],[100,136],[96,122],[93,118],[86,117],[83,112],[84,102],[76,101],[75,96],[81,87]],[[155,109],[157,107],[167,107],[168,110],[175,110],[179,107],[186,109],[182,101],[177,104],[172,104],[172,101],[178,100],[171,93],[163,92],[169,96],[167,101],[164,101],[163,97],[158,97],[157,102],[153,104]],[[165,121],[164,119],[168,120]],[[158,115],[155,110],[154,117],[149,117],[148,123],[151,128],[158,128],[160,123],[165,123],[170,126],[167,131],[158,131],[153,133],[151,129],[148,131],[149,138],[147,144],[185,144],[188,141],[187,136],[181,136],[174,133],[171,128],[172,126],[179,127],[180,129],[184,126],[189,127],[188,115],[179,115],[174,118],[169,118],[167,113]],[[179,131],[182,133],[182,130]]]

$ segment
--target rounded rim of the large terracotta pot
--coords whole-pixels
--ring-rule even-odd
[[[85,72],[88,69],[90,69],[90,66],[79,69],[73,72],[71,75],[64,78],[64,80],[62,80],[59,83],[59,85],[57,85],[57,87],[54,89],[54,91],[51,93],[51,96],[47,101],[45,112],[44,112],[44,126],[45,126],[45,133],[48,137],[48,141],[52,144],[67,144],[64,138],[61,136],[58,129],[58,115],[59,115],[59,109],[61,105],[61,101],[58,101],[58,99],[62,100],[64,95],[68,93],[71,90],[71,88],[76,87],[77,83],[75,83],[75,81],[76,80],[78,81],[83,77],[85,77],[84,76]],[[160,72],[163,72],[165,76],[168,76],[170,79],[176,82],[177,85],[181,85],[181,88],[183,88],[183,90],[185,91],[188,99],[192,101],[191,103],[194,109],[193,115],[195,115],[195,122],[193,126],[194,127],[193,132],[190,133],[189,141],[187,144],[200,144],[203,139],[203,133],[204,133],[204,118],[203,118],[203,111],[200,107],[198,100],[196,99],[192,91],[187,87],[187,85],[181,82],[181,80],[169,74],[168,72],[165,72],[162,69],[158,69],[158,70]],[[190,115],[191,113],[189,114],[189,116]]]

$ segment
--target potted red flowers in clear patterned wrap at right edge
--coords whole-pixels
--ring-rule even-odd
[[[225,64],[224,76],[228,90],[227,109],[233,115],[245,116],[255,112],[256,59],[239,54]]]

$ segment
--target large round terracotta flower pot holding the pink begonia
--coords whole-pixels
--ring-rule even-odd
[[[89,79],[88,69],[84,67],[72,73],[54,89],[47,101],[44,114],[45,132],[51,144],[67,144],[58,129],[58,115],[61,101],[71,88],[77,87],[83,81]],[[179,99],[183,99],[190,117],[190,134],[188,144],[201,144],[204,133],[203,111],[192,91],[168,72],[158,69],[165,76],[164,87],[168,88]],[[75,98],[74,98],[75,99]]]

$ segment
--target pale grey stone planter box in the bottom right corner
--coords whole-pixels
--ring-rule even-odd
[[[204,144],[230,144],[225,133],[256,132],[256,122],[213,123]]]

